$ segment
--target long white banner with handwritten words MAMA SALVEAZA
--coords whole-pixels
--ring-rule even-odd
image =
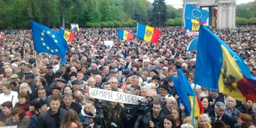
[[[90,97],[93,97],[96,99],[128,103],[128,104],[139,104],[139,100],[140,101],[146,100],[142,96],[126,94],[126,93],[110,91],[110,90],[97,89],[97,88],[90,88],[89,94],[90,94]]]

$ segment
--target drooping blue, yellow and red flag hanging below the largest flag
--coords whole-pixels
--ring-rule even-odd
[[[171,76],[174,82],[175,89],[178,93],[181,103],[185,106],[185,112],[187,116],[191,116],[191,110],[193,108],[193,96],[194,92],[183,74],[182,69],[178,69],[178,78]],[[203,105],[200,99],[196,96],[195,101],[195,117],[199,117],[204,113]]]

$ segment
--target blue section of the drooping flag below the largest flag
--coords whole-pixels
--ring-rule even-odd
[[[185,106],[186,115],[189,116],[191,114],[191,106],[188,96],[194,96],[193,90],[187,78],[184,76],[182,69],[178,69],[178,78],[174,76],[171,77],[174,82],[175,89],[179,95],[180,101]]]

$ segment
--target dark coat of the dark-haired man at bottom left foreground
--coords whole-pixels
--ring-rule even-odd
[[[37,128],[56,128],[60,126],[60,123],[67,113],[65,109],[59,109],[57,113],[57,118],[55,117],[56,114],[53,114],[51,108],[44,113],[41,113],[37,118],[36,127]]]

